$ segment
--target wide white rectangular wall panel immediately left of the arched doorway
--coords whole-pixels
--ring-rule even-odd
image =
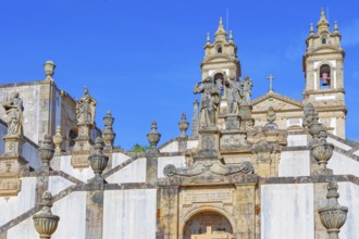
[[[102,238],[156,238],[156,189],[104,191]]]

